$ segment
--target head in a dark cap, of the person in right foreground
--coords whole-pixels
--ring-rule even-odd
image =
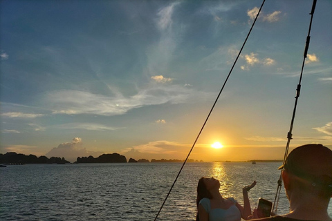
[[[289,153],[279,167],[289,174],[289,190],[332,196],[332,151],[322,144],[306,144]],[[286,183],[285,183],[286,188]],[[287,190],[287,189],[286,189]]]

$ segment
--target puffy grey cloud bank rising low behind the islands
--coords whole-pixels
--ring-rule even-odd
[[[102,152],[86,151],[86,148],[82,147],[82,139],[80,137],[74,137],[72,142],[66,142],[59,144],[59,146],[52,148],[46,157],[64,157],[70,162],[75,162],[77,157],[98,157]]]

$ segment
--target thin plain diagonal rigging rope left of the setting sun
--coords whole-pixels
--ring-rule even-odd
[[[203,126],[201,127],[201,131],[199,131],[199,134],[197,135],[196,140],[194,141],[194,144],[192,144],[192,148],[190,149],[190,151],[189,151],[187,157],[185,158],[185,162],[183,162],[180,171],[178,171],[178,175],[176,175],[176,178],[175,178],[175,180],[174,180],[174,182],[173,182],[171,188],[169,189],[169,191],[168,191],[168,193],[167,193],[167,195],[166,195],[166,198],[165,198],[163,204],[160,206],[160,209],[159,209],[159,211],[158,211],[158,213],[157,213],[157,215],[156,215],[156,218],[154,218],[154,221],[157,220],[158,215],[159,215],[161,209],[163,209],[163,206],[165,205],[165,202],[166,202],[167,198],[169,197],[169,194],[171,193],[171,191],[172,191],[172,189],[173,189],[173,187],[174,187],[174,184],[176,183],[176,180],[178,180],[178,176],[180,175],[180,173],[181,173],[183,167],[185,166],[185,163],[186,163],[187,160],[188,160],[188,157],[190,156],[190,153],[192,153],[192,150],[194,149],[194,146],[195,146],[197,140],[199,140],[199,136],[201,135],[201,133],[202,133],[204,127],[205,127],[205,124],[208,122],[208,119],[210,118],[210,115],[211,115],[211,113],[212,113],[212,111],[213,111],[213,109],[214,109],[214,106],[216,106],[216,102],[218,102],[218,99],[219,99],[221,93],[223,92],[223,88],[225,88],[225,84],[227,83],[227,81],[228,81],[228,79],[229,79],[229,77],[230,77],[230,74],[232,73],[232,70],[233,70],[235,64],[237,64],[237,60],[239,59],[239,57],[240,57],[240,55],[241,55],[241,52],[242,52],[244,46],[246,45],[246,42],[247,42],[248,37],[249,37],[249,35],[250,35],[250,32],[251,32],[252,28],[254,28],[254,26],[255,26],[255,23],[256,23],[256,21],[257,21],[257,18],[258,18],[258,16],[259,16],[259,13],[261,12],[261,8],[263,8],[263,6],[264,6],[265,1],[266,1],[266,0],[263,0],[263,3],[261,3],[261,7],[259,8],[259,11],[258,11],[258,13],[257,13],[257,15],[256,15],[256,17],[255,17],[254,22],[252,23],[252,26],[251,26],[251,28],[250,28],[250,30],[249,30],[249,32],[248,32],[248,35],[247,35],[246,39],[244,40],[244,42],[243,42],[243,44],[242,44],[242,46],[241,46],[241,49],[239,50],[239,53],[238,53],[238,55],[237,55],[237,58],[235,59],[234,64],[232,65],[232,68],[230,68],[230,72],[228,73],[228,76],[226,77],[226,79],[225,79],[225,81],[224,81],[224,83],[223,83],[223,86],[221,87],[221,90],[219,91],[219,94],[218,94],[218,96],[216,97],[216,100],[214,101],[214,104],[212,105],[212,108],[211,108],[211,110],[210,110],[210,112],[209,112],[209,114],[208,114],[208,117],[206,117],[205,122],[204,122]]]

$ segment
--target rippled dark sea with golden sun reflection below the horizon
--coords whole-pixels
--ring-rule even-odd
[[[221,182],[221,194],[243,204],[250,190],[252,209],[259,198],[274,201],[280,163],[187,163],[157,220],[195,220],[200,177]],[[154,220],[182,163],[25,164],[0,168],[0,220]],[[288,212],[282,188],[278,214]],[[332,215],[331,202],[329,214]]]

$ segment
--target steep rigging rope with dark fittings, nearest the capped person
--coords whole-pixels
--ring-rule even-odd
[[[299,75],[299,84],[297,84],[297,88],[296,88],[295,104],[294,104],[293,116],[292,116],[292,120],[291,120],[291,127],[289,129],[289,132],[287,133],[287,139],[288,140],[287,140],[287,144],[286,144],[286,150],[285,150],[283,164],[285,163],[286,157],[288,155],[289,144],[290,144],[291,140],[293,139],[292,138],[292,136],[293,136],[292,131],[293,131],[293,124],[294,124],[296,107],[297,107],[297,99],[299,99],[299,92],[301,90],[301,81],[302,81],[304,63],[306,61],[306,55],[308,53],[308,48],[309,48],[309,43],[310,43],[311,24],[313,22],[313,13],[315,12],[316,2],[317,2],[317,0],[313,0],[313,6],[311,7],[311,13],[309,14],[309,15],[311,15],[311,19],[310,19],[310,24],[309,24],[308,36],[306,37],[306,47],[304,48],[301,74]],[[272,208],[272,211],[276,214],[277,214],[281,189],[282,189],[282,173],[280,173],[280,176],[279,176],[277,193],[275,193],[275,202],[273,202],[273,208]]]

